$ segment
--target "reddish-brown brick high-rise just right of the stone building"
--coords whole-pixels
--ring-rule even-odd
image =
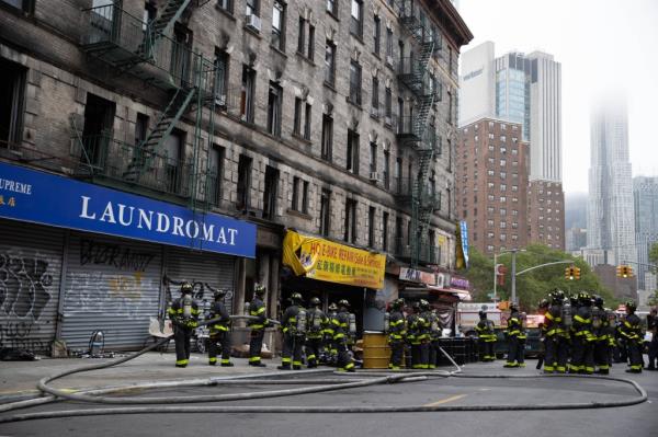
[[[460,128],[457,214],[470,245],[491,255],[527,244],[527,142],[521,125],[483,118]]]

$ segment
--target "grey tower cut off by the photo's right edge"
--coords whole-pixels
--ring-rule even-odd
[[[633,177],[635,207],[635,244],[637,244],[637,288],[649,290],[645,274],[649,272],[649,250],[658,242],[658,177]],[[650,289],[653,290],[653,289]]]

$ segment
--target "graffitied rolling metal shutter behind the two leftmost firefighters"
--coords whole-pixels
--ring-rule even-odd
[[[193,283],[198,300],[213,301],[213,292],[205,287],[206,283],[213,288],[229,290],[224,303],[228,312],[232,313],[235,262],[235,256],[171,248],[167,251],[166,274],[175,281],[184,279]],[[171,285],[170,291],[173,299],[180,297],[177,286]]]

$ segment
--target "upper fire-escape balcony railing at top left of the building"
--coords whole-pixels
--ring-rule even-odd
[[[215,66],[184,43],[115,4],[82,10],[82,48],[92,57],[163,89],[193,88],[211,96]]]

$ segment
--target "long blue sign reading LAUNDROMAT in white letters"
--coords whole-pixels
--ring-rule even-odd
[[[256,225],[0,162],[0,217],[256,256]]]

